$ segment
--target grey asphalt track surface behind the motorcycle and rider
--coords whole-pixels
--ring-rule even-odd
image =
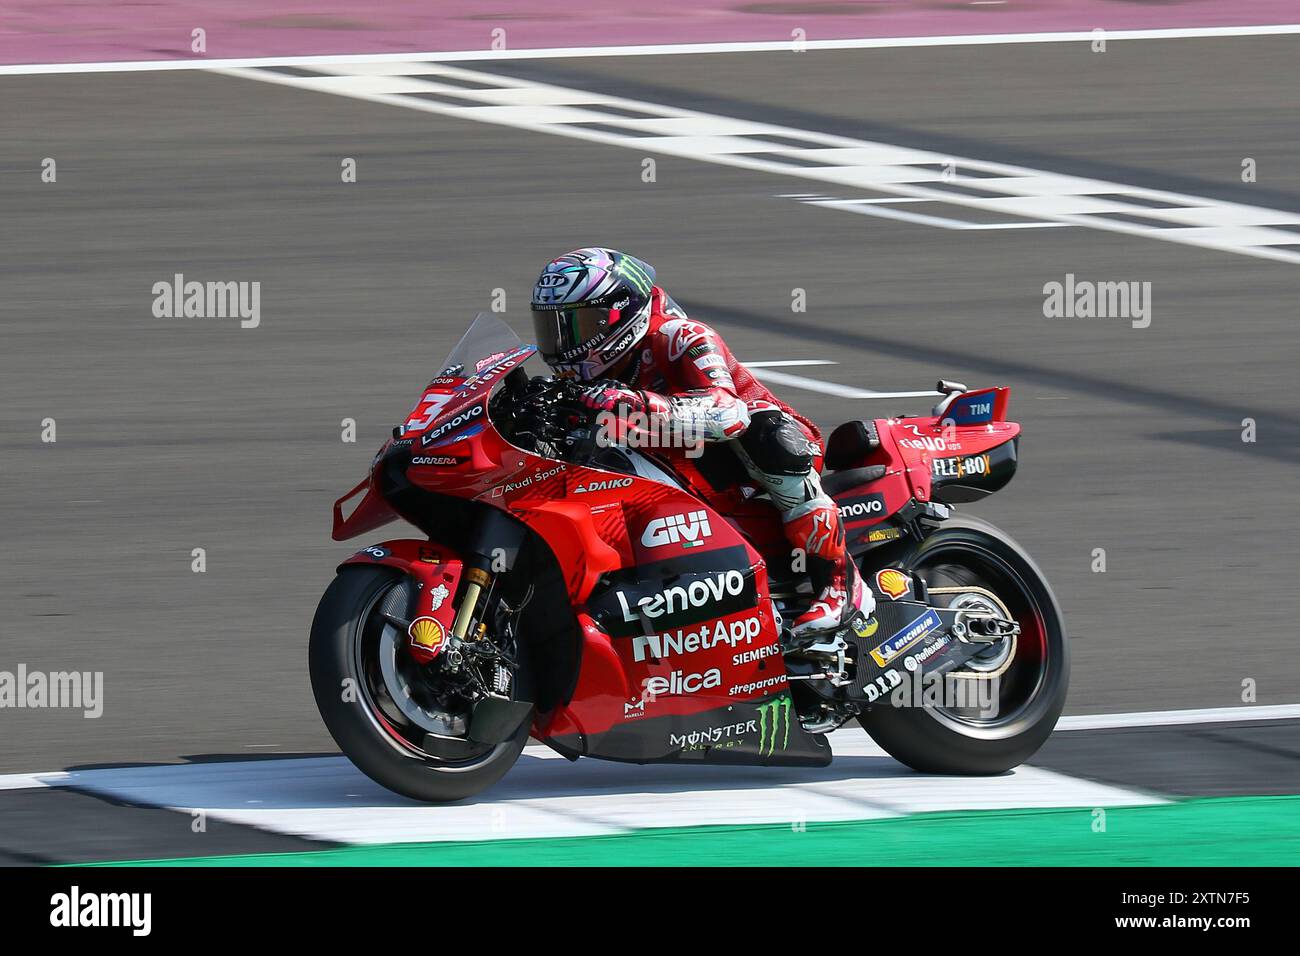
[[[484,69],[1300,212],[1297,64],[1295,38],[1239,38]],[[1296,700],[1295,265],[850,216],[689,160],[644,183],[632,150],[211,73],[0,90],[0,669],[105,675],[99,719],[0,714],[3,771],[334,752],[306,671],[351,551],[330,503],[494,289],[526,334],[540,265],[595,242],[655,263],[742,358],[833,359],[796,371],[878,390],[1010,385],[1020,471],[972,511],[1056,587],[1067,713],[1231,706],[1244,680]],[[177,272],[261,282],[261,325],[155,319]],[[1149,281],[1150,328],[1044,319],[1066,273]],[[823,425],[926,405],[779,390]]]

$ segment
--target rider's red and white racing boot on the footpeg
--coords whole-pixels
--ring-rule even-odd
[[[868,618],[876,601],[845,550],[844,524],[835,502],[820,496],[796,507],[786,515],[784,528],[786,540],[807,554],[809,576],[816,591],[809,609],[790,624],[790,636],[802,643],[840,630],[857,614]]]

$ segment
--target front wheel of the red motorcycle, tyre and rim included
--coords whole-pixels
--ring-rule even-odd
[[[432,665],[417,665],[406,635],[380,613],[402,581],[389,568],[347,567],[325,591],[308,650],[316,706],[343,753],[376,783],[415,800],[462,800],[514,766],[529,724],[499,744],[467,736],[468,701]]]

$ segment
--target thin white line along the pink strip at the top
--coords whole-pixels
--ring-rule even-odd
[[[1115,40],[1169,40],[1209,36],[1283,36],[1300,34],[1300,23],[1266,23],[1256,26],[1204,26],[1171,27],[1164,30],[1108,30],[1106,42]],[[805,40],[805,51],[818,49],[889,49],[898,47],[982,47],[1005,43],[1091,43],[1096,34],[1091,30],[1019,34],[965,34],[957,36],[866,36],[841,40]],[[621,47],[549,47],[538,49],[456,49],[429,51],[426,53],[355,53],[318,56],[261,56],[225,60],[134,60],[75,64],[13,64],[0,66],[0,75],[32,73],[136,73],[151,70],[205,70],[244,66],[295,66],[317,62],[400,62],[425,60],[458,62],[464,60],[550,60],[560,57],[594,56],[694,56],[697,53],[790,53],[790,40],[748,40],[724,43],[659,43]]]

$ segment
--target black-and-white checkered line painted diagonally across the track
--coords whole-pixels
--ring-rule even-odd
[[[1300,228],[1300,213],[1295,212],[699,113],[426,61],[217,72],[642,153],[1300,263],[1300,233],[1273,228]],[[945,179],[948,166],[956,168],[956,176]],[[844,208],[858,211],[855,206]]]

